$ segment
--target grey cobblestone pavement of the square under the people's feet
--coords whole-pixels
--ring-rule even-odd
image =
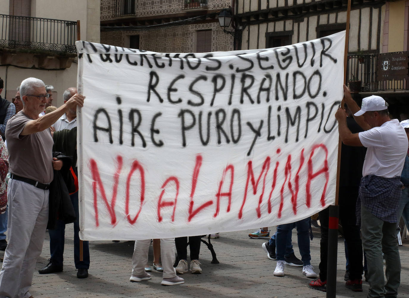
[[[270,229],[275,230],[274,227]],[[43,253],[36,264],[31,294],[35,297],[326,297],[326,293],[308,288],[309,279],[303,276],[300,267],[285,267],[284,277],[273,276],[276,261],[269,260],[261,248],[263,239],[250,239],[253,231],[221,233],[219,239],[211,240],[220,264],[211,264],[211,254],[202,244],[200,262],[202,274],[184,273],[183,285],[162,286],[162,273],[154,271],[152,279],[130,282],[133,241],[90,242],[90,276],[76,278],[74,267],[72,224],[65,233],[64,271],[41,275],[37,270],[45,266],[49,258],[49,238],[44,242]],[[293,231],[292,239],[297,240]],[[311,264],[318,273],[319,230],[314,229],[311,242]],[[293,243],[294,243],[293,242]],[[298,257],[297,245],[294,251]],[[398,297],[409,297],[409,239],[400,246],[402,262],[401,286]],[[149,260],[152,262],[152,246]],[[189,262],[189,260],[188,260]],[[337,297],[366,297],[368,283],[363,282],[364,291],[352,292],[344,282],[344,241],[338,241]]]

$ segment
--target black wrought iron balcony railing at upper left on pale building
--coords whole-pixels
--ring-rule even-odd
[[[76,22],[0,14],[0,26],[0,48],[76,53]]]

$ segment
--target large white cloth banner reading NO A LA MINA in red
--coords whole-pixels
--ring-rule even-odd
[[[344,43],[180,54],[78,41],[81,239],[258,229],[333,204]]]

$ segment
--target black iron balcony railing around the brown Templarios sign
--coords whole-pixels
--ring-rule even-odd
[[[409,78],[379,78],[380,54],[348,55],[346,83],[353,92],[408,90]]]

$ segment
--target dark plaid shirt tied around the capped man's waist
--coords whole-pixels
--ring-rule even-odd
[[[398,222],[396,211],[402,195],[400,176],[384,178],[376,175],[362,177],[355,215],[361,223],[361,203],[384,222]]]

